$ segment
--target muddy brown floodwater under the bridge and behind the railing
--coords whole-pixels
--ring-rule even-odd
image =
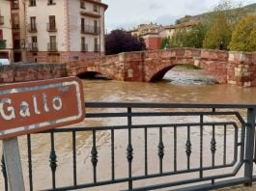
[[[86,101],[133,101],[133,102],[195,102],[195,103],[250,103],[256,104],[256,88],[242,88],[231,85],[222,85],[216,84],[216,80],[213,76],[209,76],[206,72],[201,69],[187,69],[187,68],[173,68],[165,76],[164,80],[156,83],[140,83],[140,82],[121,82],[121,81],[104,81],[104,80],[83,80],[84,94]],[[126,120],[126,119],[125,119]],[[161,118],[160,121],[167,120]],[[184,119],[176,118],[174,119],[177,122],[184,122],[189,120],[197,122],[198,119]],[[213,119],[207,119],[209,121]],[[152,119],[147,119],[148,123],[157,123]],[[123,123],[122,121],[91,121],[83,122],[77,124],[78,126],[91,126],[91,125],[111,125]],[[139,123],[139,122],[138,122]],[[117,131],[116,135],[116,155],[119,161],[116,161],[117,169],[116,174],[120,177],[127,176],[127,159],[126,159],[126,148],[127,148],[127,131]],[[207,129],[204,132],[205,139],[210,139],[210,134]],[[196,141],[198,137],[198,130],[192,130],[191,139],[195,140],[193,147],[196,148],[199,144]],[[216,130],[218,137],[222,137],[221,129]],[[228,137],[228,143],[233,141],[232,133]],[[105,166],[106,164],[111,163],[111,158],[109,157],[110,151],[110,134],[108,131],[102,131],[97,134],[97,147],[99,150],[99,176],[104,179],[109,177],[111,174],[109,169]],[[143,160],[142,154],[139,154],[143,147],[139,140],[142,139],[143,132],[139,130],[133,131],[134,142],[134,161],[133,161],[133,174],[140,174],[143,172],[141,165],[139,164],[140,160]],[[168,146],[168,137],[173,137],[172,130],[165,130],[164,137],[166,148]],[[92,139],[90,133],[79,133],[76,136],[77,144],[77,180],[78,182],[86,182],[92,180],[90,173],[92,172],[91,165],[91,146]],[[67,133],[56,135],[55,147],[57,150],[57,185],[69,185],[71,184],[71,136]],[[178,144],[178,148],[181,150],[185,149],[185,134],[183,131],[178,132],[178,139],[184,140]],[[137,140],[137,141],[135,141]],[[167,142],[167,143],[166,143]],[[158,144],[158,137],[156,130],[149,132],[149,145],[150,148],[154,148]],[[23,168],[27,168],[27,153],[26,153],[26,138],[19,138],[19,144],[21,148],[22,164]],[[221,145],[221,144],[220,144]],[[218,145],[219,147],[219,145]],[[32,139],[32,155],[33,155],[33,171],[34,173],[34,182],[35,190],[49,188],[51,185],[50,182],[50,169],[48,163],[49,155],[49,136],[46,135],[34,135]],[[233,152],[234,148],[229,147],[229,152]],[[168,150],[166,150],[167,152]],[[172,150],[169,150],[172,153]],[[155,155],[154,155],[155,154]],[[198,155],[198,151],[192,152],[193,156]],[[150,164],[157,164],[157,152],[152,153],[152,157],[149,158]],[[209,152],[210,157],[211,152]],[[169,155],[170,156],[170,155]],[[172,161],[171,157],[166,154],[166,161]],[[168,158],[169,157],[169,158]],[[178,159],[184,161],[184,155],[182,153],[178,154]],[[216,161],[217,162],[217,161]],[[184,162],[185,163],[185,162]],[[126,171],[124,171],[124,165],[126,164]],[[198,164],[195,164],[198,165]],[[157,165],[156,165],[157,166]],[[150,171],[156,171],[156,166],[152,165]],[[87,173],[85,173],[87,172]],[[25,181],[27,184],[28,174],[27,171],[24,171]],[[64,176],[63,176],[64,175]],[[181,178],[181,177],[176,177]],[[183,178],[183,177],[182,177]],[[152,182],[151,182],[152,183]],[[96,190],[119,190],[124,187],[114,186],[114,187],[104,187],[102,189],[97,188]],[[26,188],[28,189],[28,188]],[[126,189],[126,187],[125,187]]]

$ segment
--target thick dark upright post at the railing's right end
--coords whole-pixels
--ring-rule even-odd
[[[245,143],[245,159],[244,159],[244,177],[250,181],[245,183],[245,186],[252,185],[252,170],[253,170],[253,146],[255,133],[255,108],[247,109],[247,124],[246,124],[246,143]]]

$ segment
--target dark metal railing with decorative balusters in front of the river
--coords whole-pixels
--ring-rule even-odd
[[[85,107],[83,127],[27,136],[28,189],[111,190],[123,183],[118,190],[209,190],[253,180],[256,105],[86,102]],[[48,140],[49,163],[37,156],[43,148],[35,149],[34,142],[41,136]],[[62,154],[66,147],[70,151]],[[44,177],[51,177],[49,185],[37,185],[43,179],[34,177],[39,161],[43,171],[50,167]],[[69,173],[63,173],[65,165]]]

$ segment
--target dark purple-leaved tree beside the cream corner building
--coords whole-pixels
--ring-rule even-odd
[[[111,31],[105,38],[106,55],[145,49],[146,45],[142,38],[132,37],[128,32],[121,29]]]

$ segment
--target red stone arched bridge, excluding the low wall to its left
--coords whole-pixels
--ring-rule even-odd
[[[195,48],[127,52],[68,64],[69,75],[95,71],[112,79],[151,82],[177,65],[205,69],[219,83],[256,86],[256,52],[228,52]]]

